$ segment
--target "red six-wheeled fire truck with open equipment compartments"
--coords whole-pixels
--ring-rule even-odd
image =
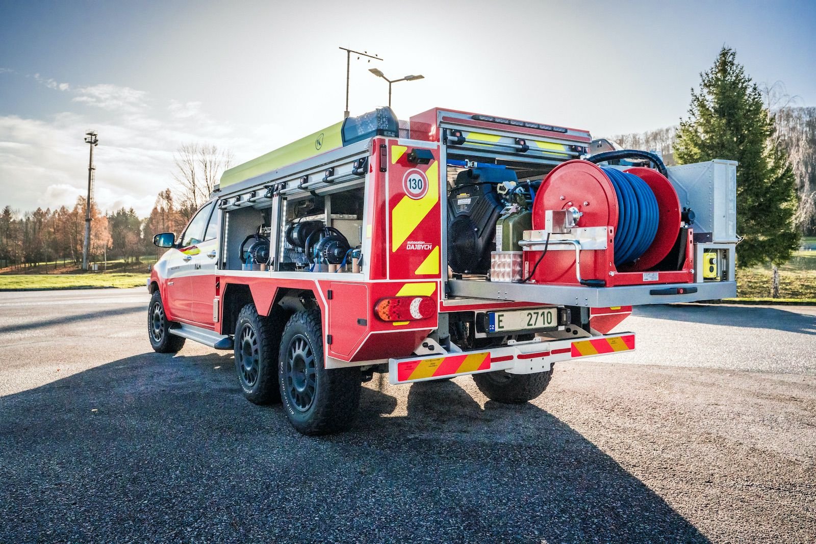
[[[225,171],[156,235],[150,342],[234,350],[246,397],[305,434],[347,427],[375,372],[526,402],[558,361],[635,349],[611,332],[633,305],[734,296],[735,168],[379,108]]]

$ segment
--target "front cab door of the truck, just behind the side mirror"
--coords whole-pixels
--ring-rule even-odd
[[[202,253],[200,245],[213,207],[213,202],[210,202],[190,219],[181,235],[178,255],[174,255],[173,262],[168,263],[167,290],[171,299],[171,312],[180,321],[195,321],[190,283],[193,272],[197,272],[197,257]]]

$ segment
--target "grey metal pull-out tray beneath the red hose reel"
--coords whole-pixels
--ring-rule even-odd
[[[737,296],[736,281],[589,287],[468,279],[450,280],[448,286],[450,295],[455,297],[583,307],[690,303]]]

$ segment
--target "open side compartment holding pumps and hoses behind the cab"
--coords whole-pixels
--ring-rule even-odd
[[[219,188],[219,268],[360,272],[368,142]]]

